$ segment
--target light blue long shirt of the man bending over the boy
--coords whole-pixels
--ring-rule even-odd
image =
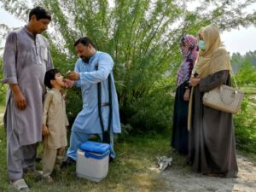
[[[79,112],[72,127],[72,131],[83,133],[102,133],[98,113],[97,83],[102,82],[102,103],[108,103],[108,75],[111,75],[113,118],[111,131],[121,132],[119,119],[119,103],[113,80],[113,59],[107,53],[96,51],[85,63],[81,58],[76,62],[74,71],[79,73],[80,79],[75,86],[81,87],[83,97],[83,109]],[[98,65],[98,70],[96,70]],[[108,128],[109,106],[102,104],[102,119],[104,129]]]

